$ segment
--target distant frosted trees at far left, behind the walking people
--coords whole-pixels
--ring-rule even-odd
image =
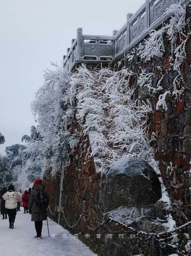
[[[6,147],[6,155],[0,155],[0,187],[7,187],[10,182],[16,188],[26,189],[40,176],[41,167],[36,164],[38,151],[31,149],[34,142],[41,140],[35,126],[31,126],[31,136],[24,135],[22,141],[27,145],[14,144]],[[5,137],[0,133],[0,144]],[[36,153],[35,153],[36,151]]]

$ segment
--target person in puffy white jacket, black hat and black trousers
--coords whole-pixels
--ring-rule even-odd
[[[18,197],[18,193],[15,192],[15,188],[12,184],[9,185],[8,191],[2,196],[2,198],[6,200],[5,208],[9,216],[9,228],[14,228]]]

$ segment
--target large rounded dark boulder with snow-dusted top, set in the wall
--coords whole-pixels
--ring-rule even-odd
[[[162,197],[157,174],[138,157],[124,157],[109,165],[102,186],[105,212],[120,206],[151,205]]]

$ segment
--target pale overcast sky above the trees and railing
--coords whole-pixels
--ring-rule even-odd
[[[5,147],[22,144],[36,125],[30,103],[50,61],[61,63],[78,27],[85,35],[112,35],[145,0],[0,0],[0,132]]]

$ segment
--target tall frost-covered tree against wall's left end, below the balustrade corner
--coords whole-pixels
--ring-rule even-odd
[[[70,92],[70,74],[56,64],[52,65],[56,70],[45,71],[45,83],[37,91],[31,109],[37,116],[38,131],[42,136],[43,171],[50,168],[51,174],[55,175],[60,172],[63,162],[67,162],[68,126],[73,117],[74,98]]]

